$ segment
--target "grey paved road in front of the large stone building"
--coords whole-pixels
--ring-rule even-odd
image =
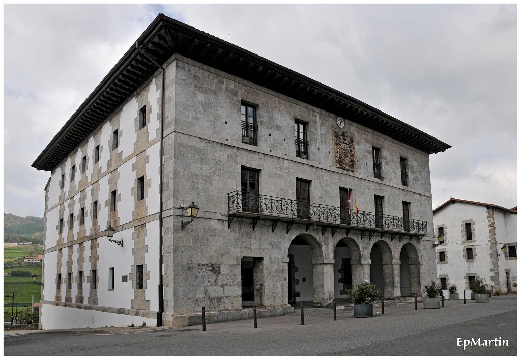
[[[489,304],[445,302],[441,309],[391,306],[385,315],[353,318],[352,311],[307,309],[300,314],[159,329],[125,334],[9,334],[4,355],[100,356],[310,356],[310,355],[517,355],[517,296],[494,297]],[[380,309],[375,308],[375,312]],[[508,340],[509,346],[472,346],[463,350],[457,338]]]

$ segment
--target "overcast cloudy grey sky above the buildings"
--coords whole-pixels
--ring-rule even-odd
[[[452,145],[431,155],[434,207],[517,205],[515,4],[4,5],[4,212],[43,216],[32,162],[158,13]]]

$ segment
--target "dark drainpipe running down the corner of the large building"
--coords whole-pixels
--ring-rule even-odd
[[[160,154],[159,154],[159,284],[157,289],[158,308],[157,326],[163,326],[163,128],[165,119],[165,68],[150,58],[138,45],[139,39],[135,42],[135,48],[147,59],[161,69],[161,122],[160,122]]]

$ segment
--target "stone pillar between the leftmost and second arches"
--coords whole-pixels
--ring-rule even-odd
[[[334,299],[334,259],[313,263],[313,306],[329,306]]]

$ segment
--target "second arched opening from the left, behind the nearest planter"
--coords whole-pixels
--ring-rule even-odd
[[[334,248],[334,298],[345,299],[347,292],[363,282],[358,244],[345,237]]]

